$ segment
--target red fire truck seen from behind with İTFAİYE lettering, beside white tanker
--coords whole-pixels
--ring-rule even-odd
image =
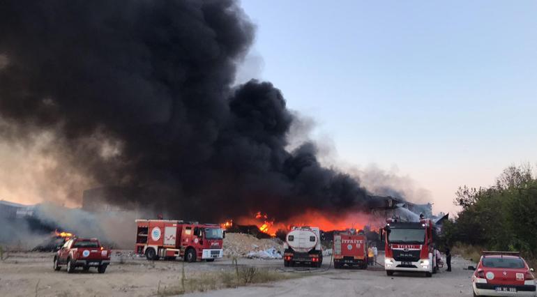
[[[333,252],[334,268],[344,265],[368,268],[367,240],[363,231],[356,233],[356,229],[334,234]]]

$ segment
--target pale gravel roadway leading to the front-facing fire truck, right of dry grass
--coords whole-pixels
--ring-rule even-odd
[[[381,261],[384,258],[379,255]],[[469,261],[455,256],[451,273],[444,268],[431,278],[413,273],[395,273],[388,277],[381,267],[367,271],[329,269],[312,272],[311,277],[188,296],[472,296],[472,271],[464,270],[469,265],[472,265]],[[323,268],[326,266],[324,264]]]

